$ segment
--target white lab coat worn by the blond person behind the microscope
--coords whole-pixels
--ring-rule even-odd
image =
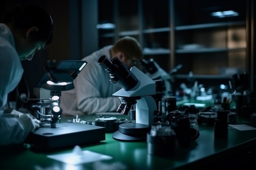
[[[111,83],[110,75],[98,63],[99,57],[110,57],[112,45],[106,46],[82,60],[88,62],[74,80],[75,88],[61,92],[63,115],[84,115],[101,112],[115,112],[121,103],[113,93],[121,86]]]

